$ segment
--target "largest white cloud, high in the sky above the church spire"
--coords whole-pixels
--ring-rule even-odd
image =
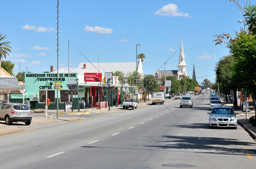
[[[154,13],[155,15],[165,15],[165,16],[184,16],[184,17],[189,17],[192,18],[191,16],[189,16],[188,13],[183,13],[183,12],[178,12],[180,9],[177,8],[178,6],[172,3],[169,3],[168,5],[163,6],[160,10],[156,11],[156,13]]]

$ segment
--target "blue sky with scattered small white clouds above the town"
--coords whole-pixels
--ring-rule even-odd
[[[136,44],[137,54],[146,56],[143,74],[164,70],[165,62],[166,70],[177,70],[182,40],[190,78],[194,64],[199,83],[214,82],[216,62],[229,55],[225,43],[215,45],[214,35],[234,36],[244,27],[230,0],[59,0],[57,57],[57,2],[1,2],[0,33],[12,48],[4,60],[15,64],[13,73],[68,67],[68,48],[70,68],[88,60],[136,61]]]

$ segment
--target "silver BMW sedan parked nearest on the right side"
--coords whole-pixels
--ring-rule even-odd
[[[231,107],[216,106],[209,114],[209,128],[212,127],[233,127],[237,129],[237,117]]]

